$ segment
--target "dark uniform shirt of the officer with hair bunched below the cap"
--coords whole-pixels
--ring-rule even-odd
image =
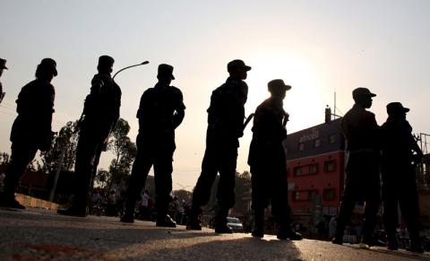
[[[16,100],[16,117],[11,142],[32,139],[35,142],[51,135],[52,114],[56,91],[51,83],[34,80],[24,87]]]

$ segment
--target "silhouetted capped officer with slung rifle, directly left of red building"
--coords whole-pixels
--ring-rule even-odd
[[[288,113],[283,100],[291,86],[277,79],[268,83],[271,98],[264,100],[254,114],[253,141],[248,164],[252,174],[253,236],[264,235],[264,209],[271,204],[273,216],[280,219],[278,239],[302,239],[291,229],[288,205],[287,161],[282,141],[287,138]]]

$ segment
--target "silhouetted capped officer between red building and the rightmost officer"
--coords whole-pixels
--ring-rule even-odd
[[[380,128],[374,114],[366,109],[372,107],[375,96],[366,88],[352,91],[356,104],[340,123],[348,143],[348,163],[333,244],[342,244],[345,226],[350,221],[356,202],[365,200],[366,220],[361,244],[365,248],[374,246],[376,213],[381,202]]]

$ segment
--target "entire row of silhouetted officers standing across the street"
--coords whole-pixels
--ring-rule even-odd
[[[7,69],[0,60],[1,71]],[[87,200],[93,170],[107,143],[109,134],[116,126],[121,105],[121,89],[111,77],[114,59],[99,57],[84,102],[82,121],[79,124],[79,141],[76,149],[75,187],[71,207],[58,213],[73,216],[87,215]],[[212,91],[208,112],[206,150],[202,160],[202,172],[193,190],[192,208],[187,229],[201,230],[202,206],[211,196],[212,184],[219,173],[217,201],[219,211],[215,218],[215,231],[231,233],[227,225],[228,210],[235,204],[235,174],[238,139],[246,124],[245,102],[248,86],[244,82],[251,67],[242,60],[227,65],[229,77],[226,83]],[[18,96],[17,112],[13,122],[11,162],[4,178],[4,193],[0,205],[23,208],[14,197],[20,178],[38,150],[46,151],[51,144],[51,121],[54,113],[55,89],[51,84],[57,75],[56,61],[43,59],[36,70],[36,80],[22,87]],[[133,222],[136,201],[145,187],[150,168],[154,168],[156,187],[156,225],[176,227],[168,216],[168,204],[172,191],[172,160],[176,150],[175,129],[185,117],[182,92],[171,86],[173,66],[161,64],[158,83],[144,91],[137,111],[139,134],[137,155],[126,195],[125,214],[121,222]],[[271,96],[255,110],[253,140],[250,145],[248,164],[252,173],[252,207],[254,210],[253,236],[264,235],[264,211],[271,205],[273,216],[278,218],[279,239],[302,239],[291,229],[291,210],[288,206],[286,157],[282,142],[287,138],[288,113],[283,100],[290,85],[276,79],[268,83]],[[412,135],[406,120],[409,109],[400,102],[387,105],[389,117],[378,126],[374,114],[366,109],[372,106],[374,93],[357,88],[352,93],[355,105],[342,118],[341,128],[348,143],[347,178],[340,203],[335,244],[342,244],[343,231],[357,201],[366,201],[365,232],[362,243],[374,245],[373,231],[376,213],[383,196],[384,223],[388,236],[388,248],[397,249],[397,206],[410,232],[410,249],[422,252],[419,242],[419,209],[415,168],[422,152]],[[245,122],[244,122],[245,121]],[[382,170],[382,181],[380,170]]]

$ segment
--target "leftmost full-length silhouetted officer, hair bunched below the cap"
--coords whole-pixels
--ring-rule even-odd
[[[46,152],[51,147],[53,139],[51,123],[56,96],[51,81],[56,75],[56,61],[51,58],[43,59],[36,69],[36,80],[22,87],[18,95],[16,100],[18,117],[12,126],[12,155],[5,171],[1,206],[25,208],[16,201],[15,190],[36,152],[38,150]]]

